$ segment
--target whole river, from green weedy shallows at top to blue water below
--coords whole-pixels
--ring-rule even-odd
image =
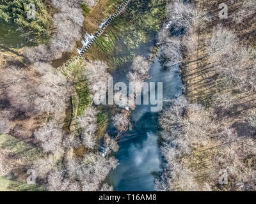
[[[131,1],[127,10],[115,18],[92,47],[89,54],[115,64],[111,72],[114,82],[125,82],[131,68],[131,59],[138,55],[149,57],[156,45],[157,33],[164,20],[164,1]],[[101,44],[100,44],[101,43]],[[102,52],[102,50],[105,50]],[[118,63],[111,63],[111,62]],[[171,99],[181,94],[182,82],[179,72],[163,71],[156,56],[149,71],[148,82],[163,82],[163,98]],[[156,90],[157,91],[157,90]],[[157,95],[156,95],[157,96]],[[114,191],[154,191],[155,175],[162,170],[163,160],[159,150],[159,112],[150,112],[150,105],[136,105],[130,120],[132,129],[118,139],[120,149],[115,157],[119,165],[111,170],[106,181]],[[108,133],[115,136],[113,128]]]

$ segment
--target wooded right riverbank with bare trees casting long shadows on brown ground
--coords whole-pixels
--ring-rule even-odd
[[[180,20],[172,29],[184,31],[172,37],[172,52],[166,54],[180,64],[184,96],[173,100],[160,119],[166,166],[156,189],[253,191],[255,4],[228,1],[223,19],[221,1],[176,2],[167,15]]]

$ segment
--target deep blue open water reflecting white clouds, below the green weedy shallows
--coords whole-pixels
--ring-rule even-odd
[[[150,68],[150,77],[148,82],[163,82],[164,99],[181,94],[179,73],[162,71],[157,57]],[[154,191],[152,172],[161,171],[162,162],[158,117],[158,112],[150,112],[150,105],[137,105],[131,112],[132,130],[120,136],[120,149],[115,154],[120,164],[109,173],[114,191]]]

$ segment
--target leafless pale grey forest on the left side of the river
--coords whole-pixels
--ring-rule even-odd
[[[13,177],[22,180],[20,177],[33,169],[36,181],[49,191],[112,190],[102,181],[118,164],[109,156],[118,150],[114,139],[104,136],[104,156],[97,150],[95,132],[99,127],[95,107],[88,106],[72,121],[68,131],[63,128],[74,84],[81,79],[70,72],[63,75],[51,66],[51,61],[60,58],[63,52],[72,51],[81,39],[84,16],[79,3],[52,0],[57,13],[52,16],[55,31],[49,44],[24,50],[29,66],[29,62],[13,60],[6,61],[0,69],[0,132],[17,138],[15,143],[28,142],[31,149],[40,152],[36,153],[40,155],[38,159],[28,162],[19,156],[10,159],[8,150],[1,150],[1,175],[14,172]],[[93,6],[96,1],[83,3]],[[92,89],[96,82],[108,80],[107,69],[101,61],[82,62],[81,76],[87,77]]]

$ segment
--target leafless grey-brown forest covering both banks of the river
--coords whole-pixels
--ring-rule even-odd
[[[2,178],[26,183],[35,170],[43,190],[113,191],[105,179],[118,166],[119,147],[105,124],[127,131],[135,105],[109,110],[109,118],[93,105],[97,85],[108,87],[111,77],[104,61],[53,65],[83,38],[81,4],[90,10],[99,2],[43,2],[52,10],[48,42],[0,55],[0,185]],[[256,1],[227,1],[227,18],[221,3],[166,1],[158,54],[184,87],[160,113],[164,169],[156,191],[256,190]],[[150,63],[132,59],[125,75],[136,88],[132,99],[150,78]]]

